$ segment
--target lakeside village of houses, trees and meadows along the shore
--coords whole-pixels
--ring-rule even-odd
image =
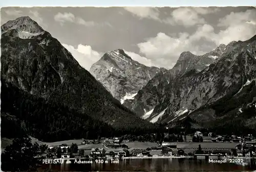
[[[246,157],[256,158],[255,137],[203,137],[194,133],[191,139],[179,142],[143,142],[100,138],[80,140],[81,143],[48,145],[44,158],[51,159],[122,159],[122,158],[166,158],[166,157]]]

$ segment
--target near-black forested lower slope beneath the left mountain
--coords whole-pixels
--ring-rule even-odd
[[[46,102],[40,97],[19,90],[2,80],[1,111],[14,115],[25,125],[27,134],[42,141],[59,141],[74,138],[93,139],[98,136],[113,137],[125,134],[143,135],[157,132],[159,126],[134,128],[113,128],[105,122],[86,113],[62,106],[61,103]],[[134,124],[136,125],[136,124]],[[8,135],[8,128],[2,122],[2,132]]]

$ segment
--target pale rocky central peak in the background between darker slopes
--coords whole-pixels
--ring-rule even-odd
[[[94,63],[90,73],[101,82],[121,104],[132,100],[137,92],[164,68],[148,67],[132,60],[123,50],[108,52]]]

